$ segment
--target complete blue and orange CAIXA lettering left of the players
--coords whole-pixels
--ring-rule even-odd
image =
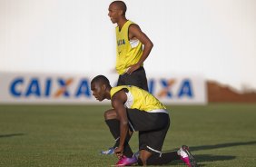
[[[27,81],[27,80],[26,80]],[[53,83],[58,85],[58,89],[54,92],[52,91]],[[25,79],[15,78],[15,80],[10,84],[10,93],[15,97],[50,97],[53,96],[54,98],[58,97],[71,97],[74,96],[79,98],[81,96],[84,97],[91,97],[91,90],[90,90],[90,81],[88,79],[82,79],[76,85],[76,90],[71,91],[69,90],[69,86],[74,83],[72,78],[70,79],[63,79],[58,78],[53,80],[52,78],[46,78],[43,82],[38,78],[31,78],[28,80],[28,83],[25,83]]]

